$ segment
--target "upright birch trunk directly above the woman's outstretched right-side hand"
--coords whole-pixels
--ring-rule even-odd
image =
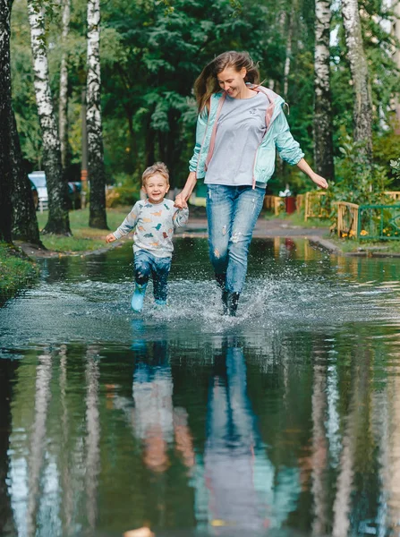
[[[315,102],[314,160],[315,169],[326,179],[334,179],[332,140],[332,106],[329,72],[330,0],[315,1]]]

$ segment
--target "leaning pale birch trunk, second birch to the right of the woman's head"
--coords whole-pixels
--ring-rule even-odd
[[[354,140],[362,142],[362,153],[372,158],[372,100],[367,59],[362,44],[362,26],[357,0],[342,1],[345,42],[354,90]]]

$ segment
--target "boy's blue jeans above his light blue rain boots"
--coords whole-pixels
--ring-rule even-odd
[[[134,253],[135,282],[144,286],[153,279],[153,294],[156,300],[166,300],[167,280],[171,268],[171,258],[158,258],[149,251],[140,250]]]

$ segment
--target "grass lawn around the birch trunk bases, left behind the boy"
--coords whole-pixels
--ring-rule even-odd
[[[38,213],[38,228],[40,239],[47,250],[62,252],[94,251],[106,246],[106,234],[122,224],[123,218],[131,207],[107,209],[107,224],[109,229],[94,229],[89,227],[89,208],[70,211],[71,237],[64,235],[43,234],[41,230],[47,223],[47,211]]]

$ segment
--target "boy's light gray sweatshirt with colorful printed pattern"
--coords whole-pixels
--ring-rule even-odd
[[[172,257],[174,229],[184,226],[188,217],[189,209],[177,209],[172,200],[164,199],[157,204],[140,200],[114,236],[120,239],[134,228],[133,251],[146,250],[156,257]]]

